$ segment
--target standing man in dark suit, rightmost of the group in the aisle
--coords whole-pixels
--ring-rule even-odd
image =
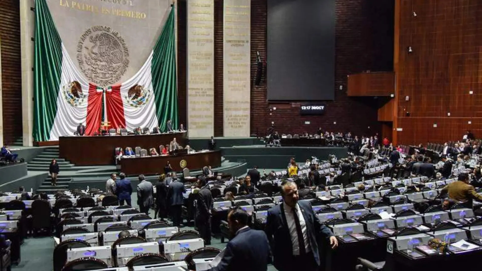
[[[213,195],[209,190],[206,178],[200,177],[198,180],[200,188],[196,197],[196,226],[205,245],[211,244],[211,209],[213,208]]]

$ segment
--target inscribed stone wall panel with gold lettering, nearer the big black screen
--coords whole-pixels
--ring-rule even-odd
[[[251,0],[224,0],[224,136],[250,136]]]

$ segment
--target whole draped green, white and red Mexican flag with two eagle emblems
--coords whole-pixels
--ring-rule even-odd
[[[34,140],[85,135],[109,128],[177,127],[174,8],[146,62],[129,80],[110,86],[88,81],[67,53],[46,0],[36,1],[34,68]]]

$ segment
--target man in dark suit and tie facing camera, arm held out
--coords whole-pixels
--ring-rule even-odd
[[[283,203],[268,210],[266,235],[273,252],[273,265],[279,271],[316,271],[320,266],[318,237],[338,245],[333,233],[323,224],[307,202],[298,202],[294,182],[281,184]]]

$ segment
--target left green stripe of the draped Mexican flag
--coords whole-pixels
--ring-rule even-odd
[[[47,141],[57,112],[62,41],[46,0],[37,0],[36,3],[33,138],[35,141]]]

